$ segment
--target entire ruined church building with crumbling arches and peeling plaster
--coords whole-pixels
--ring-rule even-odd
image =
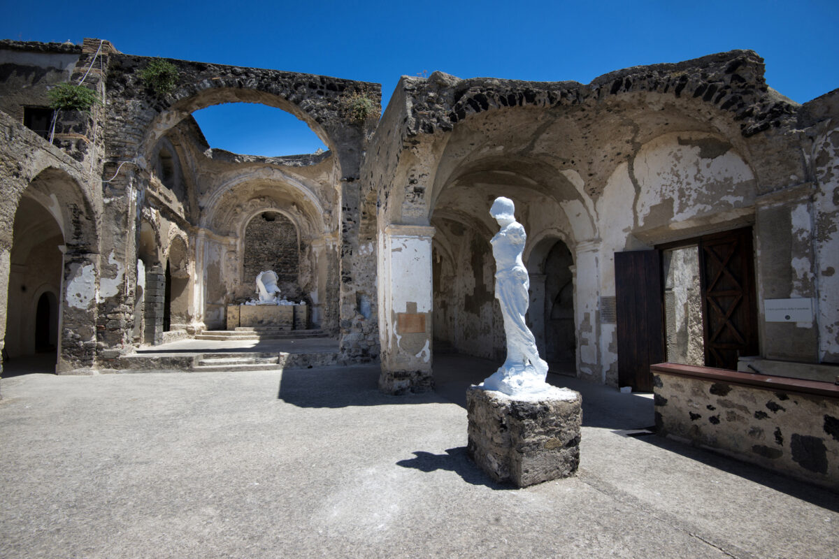
[[[109,369],[224,329],[254,271],[280,267],[342,362],[426,390],[435,350],[503,356],[487,209],[505,195],[555,366],[641,390],[664,353],[835,376],[839,91],[799,105],[732,51],[588,85],[404,76],[362,122],[347,100],[376,105],[378,84],[169,60],[161,92],[140,77],[152,60],[99,39],[0,42],[8,356],[55,347],[57,372]],[[82,78],[103,103],[60,111],[50,143],[47,91]],[[289,111],[329,151],[211,149],[190,113],[232,101]],[[783,302],[795,319],[767,310]]]

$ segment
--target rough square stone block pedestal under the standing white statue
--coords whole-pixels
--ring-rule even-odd
[[[567,478],[580,464],[581,403],[580,393],[567,389],[516,400],[471,386],[469,456],[492,479],[519,487]]]

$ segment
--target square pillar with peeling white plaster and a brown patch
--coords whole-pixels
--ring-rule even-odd
[[[434,227],[388,225],[379,233],[378,313],[382,346],[379,389],[430,390],[431,239]]]

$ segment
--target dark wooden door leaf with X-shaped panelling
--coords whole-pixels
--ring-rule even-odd
[[[758,354],[752,229],[699,242],[705,365],[737,370],[738,355]]]

